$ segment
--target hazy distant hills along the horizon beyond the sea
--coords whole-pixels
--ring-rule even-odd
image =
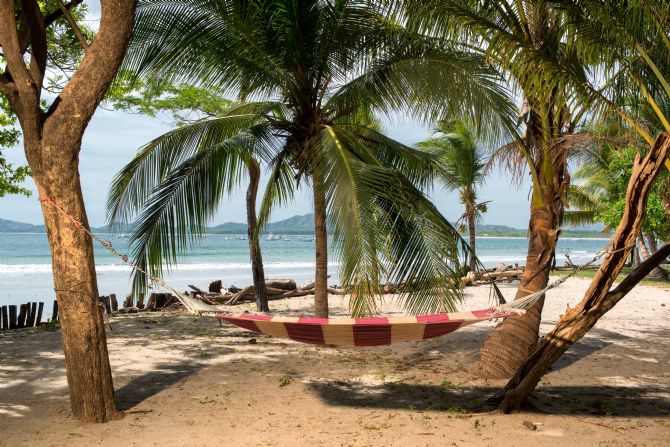
[[[131,225],[116,224],[111,226],[92,228],[96,233],[129,233]],[[597,227],[596,227],[597,228]],[[0,219],[0,233],[44,233],[44,225],[32,225],[12,220]],[[245,234],[247,224],[239,222],[226,222],[207,229],[209,234]],[[264,233],[287,233],[287,234],[314,234],[314,214],[296,215],[288,219],[272,222]],[[527,230],[512,228],[506,225],[478,225],[477,235],[484,237],[526,237]],[[583,231],[581,229],[565,229],[563,237],[608,237],[609,234],[600,231]]]

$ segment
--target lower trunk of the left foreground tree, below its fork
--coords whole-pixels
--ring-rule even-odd
[[[67,141],[64,135],[53,135],[49,140]],[[62,144],[59,149],[64,149]],[[27,147],[31,153],[35,150],[45,151]],[[60,156],[54,154],[47,169],[33,170],[33,176],[42,198],[53,199],[88,228],[78,160],[72,160],[69,153],[62,150]],[[117,409],[112,383],[92,240],[50,203],[42,202],[42,213],[51,247],[72,414],[85,422],[118,419],[122,413]]]

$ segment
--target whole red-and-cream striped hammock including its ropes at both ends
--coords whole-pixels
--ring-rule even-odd
[[[596,253],[588,263],[575,266],[569,274],[547,285],[542,290],[524,298],[514,300],[489,309],[399,317],[373,318],[305,318],[286,317],[259,314],[231,314],[226,310],[208,305],[193,297],[184,295],[172,287],[163,278],[156,277],[131,262],[128,255],[120,253],[114,248],[111,241],[103,239],[86,228],[80,220],[72,216],[51,197],[40,190],[40,202],[50,205],[67,217],[79,230],[88,234],[100,243],[109,252],[121,259],[131,268],[145,275],[152,283],[172,292],[192,315],[214,317],[219,321],[260,332],[267,335],[288,338],[301,343],[322,345],[353,345],[353,346],[382,346],[412,340],[425,340],[439,337],[455,331],[463,326],[480,321],[522,316],[526,309],[532,307],[544,294],[576,275],[580,270],[595,263],[604,256],[605,249]]]

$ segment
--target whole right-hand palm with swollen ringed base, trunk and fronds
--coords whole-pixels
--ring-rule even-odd
[[[416,2],[414,24],[426,33],[450,35],[479,51],[510,79],[523,98],[523,135],[496,151],[495,160],[517,178],[530,173],[532,197],[528,253],[516,299],[546,287],[569,187],[568,147],[583,102],[565,82],[587,79],[587,65],[565,16],[543,0],[433,0]],[[541,73],[537,60],[558,67]],[[561,73],[558,73],[558,72]],[[552,76],[553,74],[553,76]],[[524,317],[507,318],[486,339],[478,364],[490,378],[509,377],[537,344],[544,298]]]

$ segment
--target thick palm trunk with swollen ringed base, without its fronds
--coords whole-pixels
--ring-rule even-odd
[[[534,164],[537,179],[533,185],[530,222],[528,224],[528,254],[521,284],[515,299],[522,299],[547,286],[553,267],[556,244],[563,218],[563,197],[569,186],[567,155],[543,134],[552,119],[529,125],[530,141],[537,150]],[[546,143],[545,143],[546,142]],[[543,148],[543,149],[542,149]],[[509,378],[533,352],[539,338],[544,297],[525,315],[506,318],[485,340],[480,350],[478,373],[486,378]]]

